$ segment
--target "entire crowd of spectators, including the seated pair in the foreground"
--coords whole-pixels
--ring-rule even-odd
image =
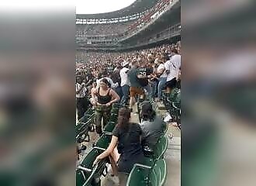
[[[162,90],[170,93],[180,88],[181,43],[123,53],[80,51],[78,55],[84,57],[84,63],[76,65],[78,120],[93,107],[95,132],[102,136],[112,105],[120,105],[112,140],[93,164],[109,157],[119,185],[126,185],[133,165],[141,164],[164,134],[164,120],[147,100],[161,102]],[[140,111],[136,102],[141,105]],[[131,115],[139,112],[140,123],[131,122]]]

